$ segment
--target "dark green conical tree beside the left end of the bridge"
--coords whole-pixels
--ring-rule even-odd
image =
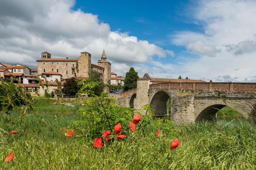
[[[125,74],[124,91],[137,88],[137,79],[139,79],[138,73],[133,67],[131,67],[130,70]]]

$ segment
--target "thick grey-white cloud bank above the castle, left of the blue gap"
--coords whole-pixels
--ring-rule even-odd
[[[127,66],[143,64],[154,56],[174,55],[173,51],[126,32],[112,31],[97,15],[73,10],[74,3],[74,0],[0,1],[1,62],[13,63],[15,59],[35,66],[35,60],[45,50],[52,57],[79,57],[81,51],[88,51],[96,62],[105,49],[111,62]]]

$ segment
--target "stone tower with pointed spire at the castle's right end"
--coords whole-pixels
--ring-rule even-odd
[[[104,68],[104,80],[107,85],[111,83],[111,63],[107,61],[105,50],[102,52],[101,59],[98,60],[98,65]]]

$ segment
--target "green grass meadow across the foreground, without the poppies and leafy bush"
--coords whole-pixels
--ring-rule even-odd
[[[35,114],[27,113],[21,121],[18,110],[10,115],[0,113],[0,128],[18,132],[6,135],[0,130],[0,170],[256,169],[254,125],[200,122],[166,128],[152,121],[139,125],[125,139],[105,142],[96,149],[93,140],[87,142],[76,130],[71,138],[64,136],[73,128],[72,122],[81,119],[76,109],[49,101],[45,107],[36,103]],[[157,129],[159,137],[155,137]],[[173,139],[179,139],[180,145],[170,150]],[[6,163],[6,155],[12,151],[15,157]]]

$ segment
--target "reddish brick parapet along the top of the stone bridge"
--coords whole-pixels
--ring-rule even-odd
[[[149,88],[174,88],[189,90],[234,91],[256,93],[256,83],[250,82],[167,82],[152,84],[149,85]]]

